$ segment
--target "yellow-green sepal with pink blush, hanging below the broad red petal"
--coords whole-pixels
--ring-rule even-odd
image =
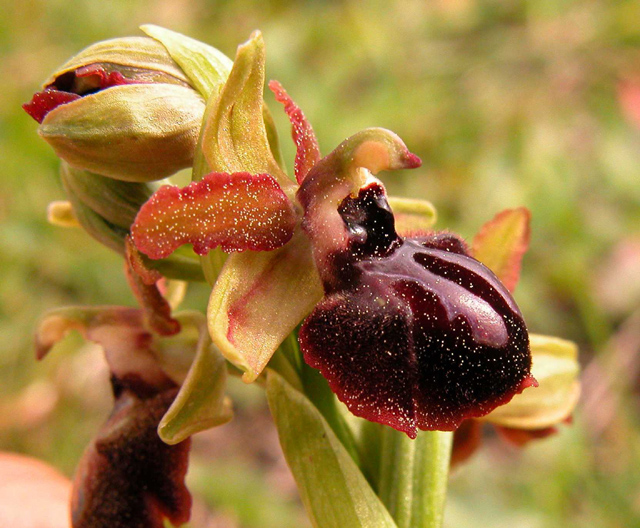
[[[227,259],[209,301],[211,338],[253,381],[321,297],[309,241],[297,230],[280,249]]]

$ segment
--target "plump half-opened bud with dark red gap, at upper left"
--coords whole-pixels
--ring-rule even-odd
[[[71,166],[147,182],[192,165],[204,101],[162,44],[132,37],[82,51],[24,109]]]

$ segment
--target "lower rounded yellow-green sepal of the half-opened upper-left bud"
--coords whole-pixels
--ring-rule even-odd
[[[191,88],[129,84],[57,106],[38,132],[74,167],[145,182],[191,166],[203,114]]]

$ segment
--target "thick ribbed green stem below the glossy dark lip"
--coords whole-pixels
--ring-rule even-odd
[[[398,528],[442,526],[452,439],[452,433],[423,431],[411,440],[384,429],[378,494]]]

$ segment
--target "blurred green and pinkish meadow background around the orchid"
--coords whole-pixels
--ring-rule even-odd
[[[573,425],[524,450],[487,437],[451,478],[449,527],[640,526],[640,2],[637,0],[24,0],[0,12],[0,449],[71,475],[109,412],[100,352],[71,338],[36,363],[39,314],[134,301],[121,261],[46,223],[57,159],[20,105],[94,41],[154,23],[233,57],[252,30],[267,75],[323,152],[367,126],[424,161],[391,193],[435,203],[471,239],[504,208],[533,213],[516,291],[530,330],[576,341]],[[285,159],[289,127],[271,95]],[[187,303],[204,309],[208,292]],[[194,527],[307,526],[261,391],[195,441]],[[346,527],[348,528],[348,527]]]

